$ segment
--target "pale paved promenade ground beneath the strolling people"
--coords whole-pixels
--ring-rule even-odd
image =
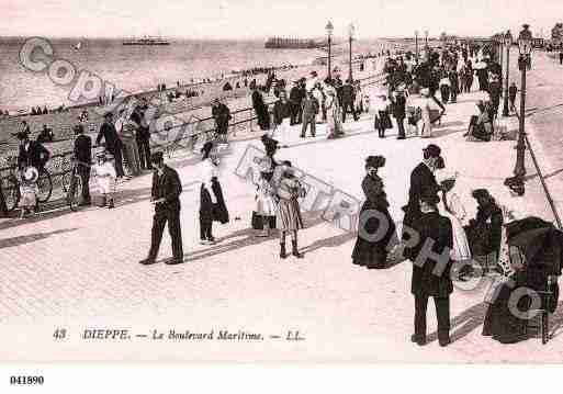
[[[378,88],[373,88],[378,89]],[[531,90],[532,88],[530,88]],[[447,168],[458,171],[455,192],[474,217],[471,191],[485,187],[507,207],[551,221],[538,177],[527,157],[527,193],[517,198],[503,185],[511,175],[515,142],[471,143],[462,135],[482,93],[461,94],[432,138],[397,140],[396,130],[378,138],[372,115],[345,124],[346,137],[299,138],[277,157],[362,200],[360,188],[368,155],[383,155],[385,182],[395,221],[403,218],[408,178],[432,143],[442,148]],[[530,130],[533,134],[534,130]],[[223,159],[221,182],[232,222],[216,226],[218,243],[199,241],[198,157],[179,155],[169,165],[184,185],[182,236],[185,263],[143,267],[137,261],[149,246],[153,207],[150,175],[120,187],[116,209],[78,213],[43,213],[30,221],[0,219],[0,324],[11,338],[0,349],[4,360],[311,360],[402,362],[560,362],[563,358],[563,305],[551,317],[553,339],[500,345],[481,336],[487,282],[472,291],[454,290],[451,297],[452,340],[436,340],[433,307],[429,308],[431,341],[410,342],[414,301],[410,263],[367,271],[351,263],[356,235],[325,222],[319,212],[304,213],[300,232],[301,260],[278,258],[278,239],[256,238],[250,227],[255,188],[234,175],[249,145],[261,148],[259,133],[240,133]],[[537,137],[537,136],[536,136]],[[533,139],[533,138],[532,138]],[[532,142],[532,144],[534,144]],[[552,178],[555,183],[555,177]],[[237,221],[236,217],[240,217]],[[170,256],[165,235],[160,257]],[[86,328],[130,329],[132,338],[117,344],[81,339]],[[54,340],[56,328],[69,336]],[[153,330],[209,333],[227,329],[260,333],[258,341],[158,341]],[[289,331],[304,338],[288,341]],[[147,335],[138,338],[135,335]],[[280,338],[271,338],[279,336]]]

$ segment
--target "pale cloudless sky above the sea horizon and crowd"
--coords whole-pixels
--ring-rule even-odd
[[[357,26],[358,38],[414,31],[489,36],[529,23],[545,37],[562,0],[0,0],[0,36],[185,38],[318,37]],[[424,34],[424,33],[420,33]]]

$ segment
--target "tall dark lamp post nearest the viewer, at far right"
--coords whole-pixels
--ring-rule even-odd
[[[518,195],[523,195],[525,185],[523,177],[526,176],[526,71],[530,64],[530,54],[532,49],[532,33],[529,31],[530,25],[523,24],[523,30],[518,35],[518,68],[520,69],[522,80],[520,86],[520,116],[518,127],[518,143],[516,144],[516,165],[514,168],[514,177],[508,178],[505,184],[510,187]]]

